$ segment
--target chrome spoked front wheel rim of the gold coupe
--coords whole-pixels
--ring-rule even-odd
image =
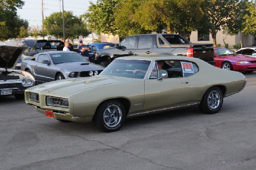
[[[116,104],[112,104],[105,109],[103,116],[104,122],[108,127],[115,127],[122,119],[121,108]]]

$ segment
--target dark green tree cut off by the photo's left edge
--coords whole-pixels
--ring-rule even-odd
[[[0,40],[16,38],[22,26],[28,28],[28,21],[17,16],[23,5],[22,0],[0,0]]]

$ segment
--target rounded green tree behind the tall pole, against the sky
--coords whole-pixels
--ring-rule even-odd
[[[64,11],[65,34],[67,38],[74,39],[79,35],[87,36],[89,31],[81,18],[74,16],[71,11]],[[62,12],[54,12],[43,21],[44,30],[55,37],[63,38]]]

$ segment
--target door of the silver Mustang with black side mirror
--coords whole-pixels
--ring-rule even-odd
[[[43,61],[49,61],[50,64],[42,63]],[[41,54],[38,55],[37,64],[34,66],[34,72],[36,79],[43,82],[49,82],[55,80],[55,71],[52,68],[52,60],[49,55]]]

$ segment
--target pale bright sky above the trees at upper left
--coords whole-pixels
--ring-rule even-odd
[[[28,20],[29,26],[42,25],[42,1],[44,9],[44,18],[53,12],[62,12],[62,0],[23,0],[25,3],[22,9],[17,9],[20,18]],[[87,11],[89,2],[96,3],[97,0],[64,0],[64,11],[72,11],[74,15],[79,16]]]

